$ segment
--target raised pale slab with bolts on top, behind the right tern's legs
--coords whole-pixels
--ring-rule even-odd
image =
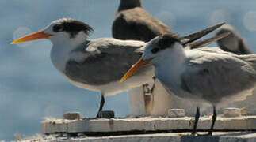
[[[191,130],[193,118],[111,118],[64,120],[48,119],[41,123],[44,134],[51,133],[132,133],[132,132],[168,132]],[[198,129],[207,130],[211,125],[211,117],[202,117]],[[217,118],[216,130],[256,130],[256,116],[237,118]]]

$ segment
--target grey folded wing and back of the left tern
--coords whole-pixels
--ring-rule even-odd
[[[66,74],[71,80],[90,85],[109,84],[119,81],[126,71],[141,57],[136,51],[145,43],[120,41],[116,39],[91,40],[84,50],[86,58],[78,62],[70,60],[66,65]],[[74,52],[76,51],[74,50]]]

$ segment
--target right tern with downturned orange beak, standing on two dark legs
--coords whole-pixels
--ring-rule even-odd
[[[216,121],[216,106],[246,99],[256,87],[256,54],[238,55],[220,48],[184,50],[184,42],[175,36],[152,39],[142,58],[132,66],[121,81],[131,77],[144,65],[155,66],[167,91],[178,97],[212,104],[212,135]],[[200,108],[197,107],[192,134],[197,134]]]

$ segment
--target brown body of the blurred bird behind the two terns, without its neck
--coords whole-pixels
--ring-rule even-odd
[[[113,37],[117,39],[136,39],[148,42],[170,30],[142,8],[117,13],[112,27]]]

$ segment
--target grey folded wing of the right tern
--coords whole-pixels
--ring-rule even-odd
[[[181,87],[209,102],[218,103],[224,96],[254,87],[255,70],[235,55],[204,53],[187,64]]]

